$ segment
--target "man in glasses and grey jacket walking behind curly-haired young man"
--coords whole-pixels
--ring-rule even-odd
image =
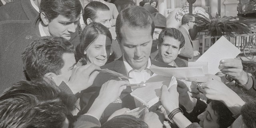
[[[195,17],[192,14],[185,14],[181,20],[181,26],[179,28],[185,38],[185,45],[180,50],[179,58],[185,60],[188,63],[188,59],[192,59],[194,56],[200,55],[198,51],[193,50],[192,40],[190,38],[188,30],[195,25]]]

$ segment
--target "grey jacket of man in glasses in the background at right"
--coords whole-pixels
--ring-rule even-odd
[[[183,26],[180,26],[179,30],[185,38],[185,44],[181,48],[181,51],[180,51],[180,54],[178,55],[178,57],[188,61],[188,58],[192,59],[194,57],[192,40],[190,38],[189,33]]]

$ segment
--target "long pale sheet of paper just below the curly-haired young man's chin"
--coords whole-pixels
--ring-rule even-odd
[[[192,76],[204,76],[202,66],[199,67],[180,67],[180,68],[163,68],[158,66],[150,66],[150,70],[155,74],[167,77],[176,77],[178,79],[185,79]]]

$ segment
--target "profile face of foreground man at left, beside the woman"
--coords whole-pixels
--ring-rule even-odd
[[[64,61],[64,66],[60,69],[60,74],[71,76],[72,70],[76,66],[74,53],[64,53],[62,59]]]

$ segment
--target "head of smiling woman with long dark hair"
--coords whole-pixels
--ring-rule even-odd
[[[112,36],[108,28],[96,22],[86,26],[76,47],[76,66],[93,63],[103,66],[110,56]]]

